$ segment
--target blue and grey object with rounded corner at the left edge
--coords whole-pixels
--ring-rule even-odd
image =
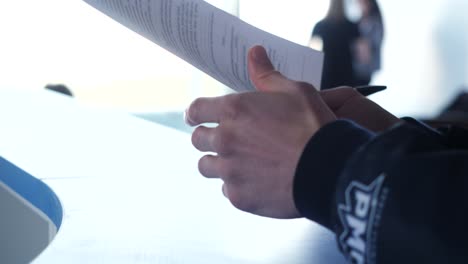
[[[29,263],[53,240],[62,206],[42,181],[0,157],[0,263]]]

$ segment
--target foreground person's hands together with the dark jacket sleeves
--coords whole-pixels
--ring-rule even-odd
[[[219,124],[199,126],[192,143],[215,153],[199,171],[223,180],[235,207],[308,217],[336,232],[348,258],[371,259],[358,263],[468,263],[466,131],[404,122],[351,88],[317,92],[261,47],[248,61],[258,92],[197,99],[186,115]]]

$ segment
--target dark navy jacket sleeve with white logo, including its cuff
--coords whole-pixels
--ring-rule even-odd
[[[351,263],[468,263],[468,132],[333,122],[307,144],[294,199]]]

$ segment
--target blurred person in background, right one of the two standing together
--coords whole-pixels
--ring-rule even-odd
[[[361,37],[355,46],[354,71],[356,84],[368,85],[380,69],[384,25],[377,0],[358,0],[358,3],[362,14],[358,22]]]

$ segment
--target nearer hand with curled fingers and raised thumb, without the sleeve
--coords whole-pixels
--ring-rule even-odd
[[[202,157],[199,170],[221,178],[224,195],[241,210],[299,217],[293,199],[297,163],[310,137],[336,117],[310,84],[275,71],[263,48],[251,49],[248,63],[254,85],[270,92],[199,98],[187,110],[190,125],[219,124],[193,132],[198,150],[217,154]]]

